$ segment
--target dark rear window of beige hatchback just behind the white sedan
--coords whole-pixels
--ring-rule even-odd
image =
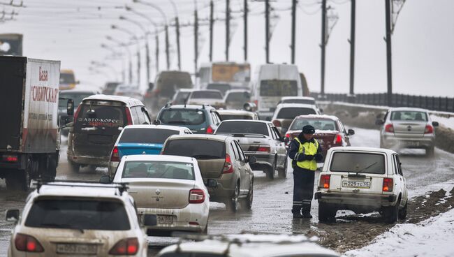
[[[226,158],[226,145],[221,141],[205,139],[170,140],[164,147],[163,154],[197,159],[224,159]]]

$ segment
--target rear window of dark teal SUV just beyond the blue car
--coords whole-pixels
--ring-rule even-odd
[[[205,122],[205,113],[193,109],[165,109],[159,115],[163,124],[200,125]]]

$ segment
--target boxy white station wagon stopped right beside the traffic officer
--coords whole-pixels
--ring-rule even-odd
[[[318,219],[335,220],[337,210],[379,211],[388,223],[407,216],[407,182],[399,155],[390,149],[332,147],[318,178]]]

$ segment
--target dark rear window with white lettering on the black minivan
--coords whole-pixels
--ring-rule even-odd
[[[119,126],[126,126],[124,106],[117,105],[80,105],[80,111],[74,124],[75,131],[117,131]]]

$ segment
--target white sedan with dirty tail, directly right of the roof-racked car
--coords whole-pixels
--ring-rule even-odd
[[[113,182],[128,183],[139,221],[147,228],[148,235],[207,232],[210,196],[196,159],[171,155],[123,156]]]

